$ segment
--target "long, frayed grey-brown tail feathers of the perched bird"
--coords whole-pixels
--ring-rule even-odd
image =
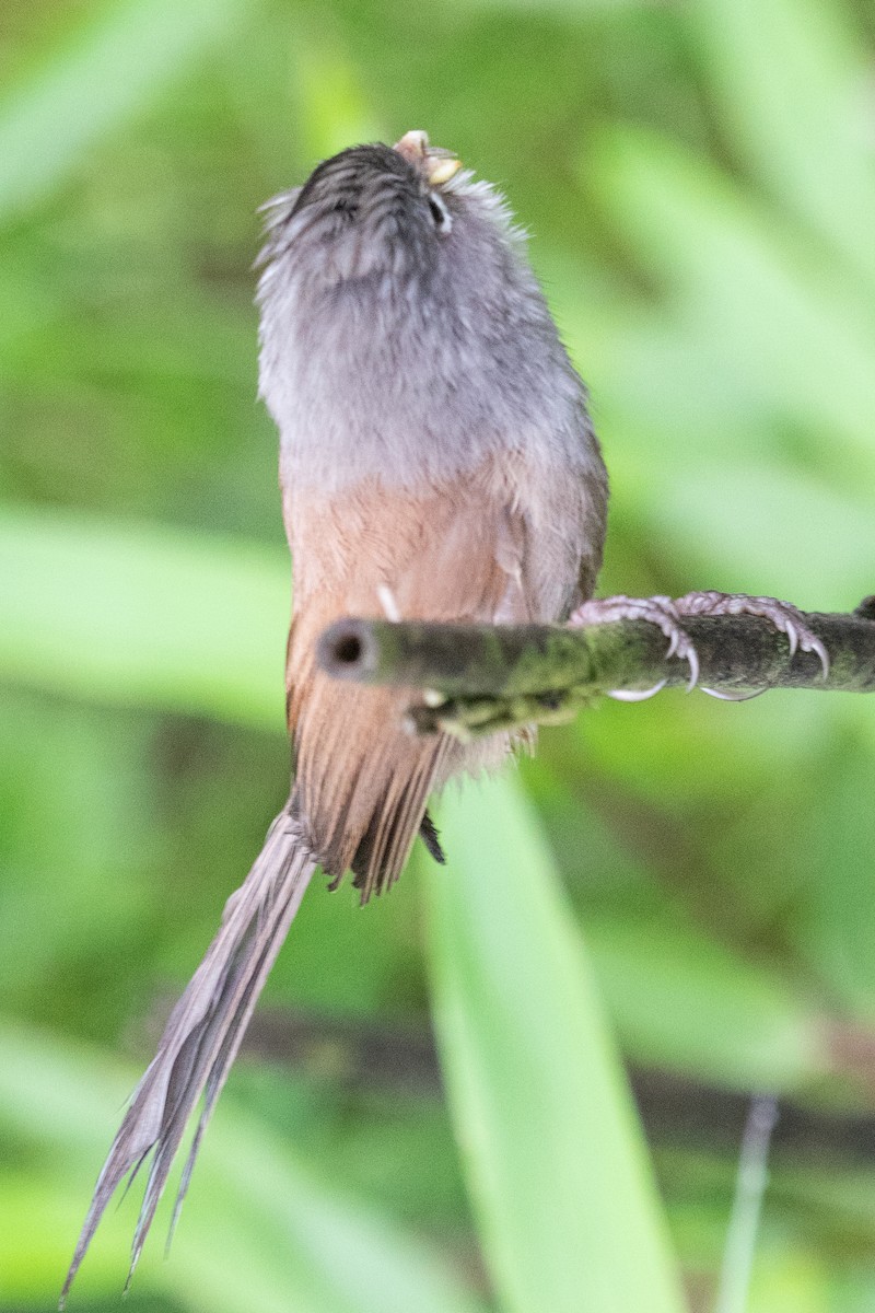
[[[109,1200],[125,1176],[130,1173],[132,1180],[152,1154],[131,1246],[130,1283],[185,1125],[203,1094],[172,1233],[207,1121],[315,868],[299,827],[282,811],[244,884],[228,898],[219,932],[173,1008],[157,1053],[134,1091],[94,1187],[60,1295],[62,1309]]]

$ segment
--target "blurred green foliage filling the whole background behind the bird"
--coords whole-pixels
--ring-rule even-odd
[[[603,591],[847,609],[874,51],[865,0],[0,9],[1,1310],[54,1304],[156,998],[285,798],[257,206],[428,129],[506,189],[590,383]],[[240,1062],[127,1308],[668,1313],[674,1257],[710,1308],[720,1100],[756,1088],[825,1138],[778,1140],[750,1313],[875,1308],[874,756],[867,699],[605,704],[447,801],[447,872],[362,913],[314,888],[265,1002],[325,1043]],[[404,1079],[430,998],[446,1103]],[[387,1037],[380,1081],[344,1020]],[[75,1306],[118,1306],[132,1213]]]

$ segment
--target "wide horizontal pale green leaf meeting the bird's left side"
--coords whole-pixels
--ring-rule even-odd
[[[279,730],[289,558],[232,538],[0,513],[0,678]]]

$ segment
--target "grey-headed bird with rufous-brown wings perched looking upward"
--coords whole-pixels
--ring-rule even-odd
[[[279,432],[293,562],[291,789],[131,1096],[62,1306],[109,1200],[148,1163],[130,1281],[201,1102],[173,1230],[315,871],[329,888],[349,873],[367,902],[417,836],[442,861],[430,796],[531,739],[415,738],[417,695],[331,680],[319,635],[344,616],[563,621],[592,599],[602,561],[607,474],[586,387],[502,194],[413,130],[324,160],[265,211],[260,395]]]

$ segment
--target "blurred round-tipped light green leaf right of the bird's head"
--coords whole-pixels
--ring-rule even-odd
[[[656,365],[668,348],[674,368],[672,337],[681,327],[706,383],[723,377],[695,440],[725,446],[720,394],[729,383],[756,398],[761,432],[790,419],[803,433],[823,432],[824,454],[834,454],[838,439],[871,469],[875,328],[859,284],[714,165],[653,133],[605,134],[592,167],[613,221],[665,288],[662,323],[649,343]],[[634,328],[635,337],[640,332]],[[647,366],[640,343],[638,355]],[[661,391],[683,382],[669,372]],[[661,402],[656,391],[651,407]],[[638,421],[648,433],[643,410]]]

